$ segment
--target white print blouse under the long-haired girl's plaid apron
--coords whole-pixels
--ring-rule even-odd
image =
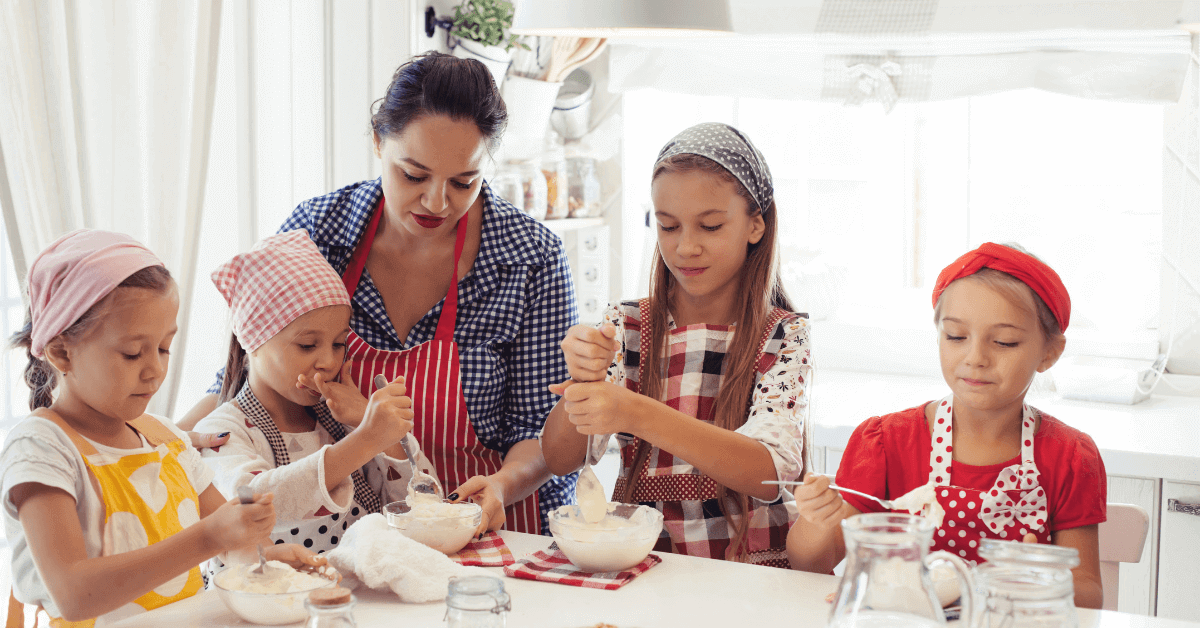
[[[610,323],[617,328],[614,336],[620,341],[620,351],[616,360],[608,366],[605,381],[625,387],[629,370],[636,367],[626,366],[624,355],[630,347],[625,346],[625,316],[638,316],[637,306],[612,305],[605,312],[604,323]],[[754,397],[750,403],[750,415],[745,424],[734,430],[737,433],[754,438],[770,453],[770,459],[775,463],[776,479],[791,482],[799,478],[804,468],[804,433],[805,423],[809,418],[809,393],[808,385],[812,378],[812,359],[809,345],[809,321],[797,318],[781,321],[784,325],[782,341],[776,345],[768,343],[766,351],[775,353],[775,364],[755,383]],[[674,329],[674,317],[667,316],[667,329]],[[733,331],[728,331],[730,336]],[[631,347],[640,351],[640,347]],[[787,357],[788,359],[782,359]],[[602,450],[602,449],[601,449]],[[686,469],[676,467],[676,473],[686,473]],[[754,497],[756,504],[773,503],[779,498],[790,500],[790,492],[782,486],[769,501]]]

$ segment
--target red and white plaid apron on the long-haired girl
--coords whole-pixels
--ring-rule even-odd
[[[775,355],[768,348],[781,334],[780,323],[796,316],[775,309],[768,317],[758,345],[756,370],[760,376],[774,364]],[[649,355],[649,343],[641,334],[641,321],[649,319],[647,299],[642,299],[638,304],[638,318],[634,319],[632,316],[625,318],[625,346],[638,347],[638,378],[625,379],[626,388],[635,393],[640,391],[641,373],[654,364],[654,360],[646,359]],[[727,325],[696,324],[672,329],[666,347],[662,402],[673,409],[712,423],[713,402],[721,388],[725,353],[731,337],[731,328]],[[641,439],[636,437],[618,438],[622,443],[622,473],[613,495],[625,492],[629,466],[641,445]],[[637,469],[637,474],[632,502],[662,512],[665,534],[654,546],[655,551],[671,551],[702,558],[731,557],[730,545],[734,530],[721,513],[718,498],[720,486],[716,480],[658,447],[650,448],[646,463]],[[790,568],[785,549],[788,528],[790,515],[781,502],[755,506],[751,501],[750,524],[746,531],[746,562]]]

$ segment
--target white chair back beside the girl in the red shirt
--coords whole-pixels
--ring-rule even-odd
[[[1154,478],[1109,476],[1109,503],[1130,503],[1150,515],[1150,530],[1141,550],[1141,561],[1121,564],[1121,588],[1117,610],[1154,615],[1154,591],[1158,576],[1158,492]]]

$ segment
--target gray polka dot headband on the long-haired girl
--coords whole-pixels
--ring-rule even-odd
[[[770,169],[762,152],[750,143],[742,131],[721,122],[702,122],[684,130],[667,142],[654,161],[654,168],[676,155],[700,155],[719,163],[737,177],[761,211],[770,209],[775,191],[770,183]]]

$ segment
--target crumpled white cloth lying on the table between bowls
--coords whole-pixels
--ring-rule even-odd
[[[329,552],[332,564],[346,579],[342,586],[390,588],[406,604],[439,602],[446,597],[451,578],[488,575],[479,567],[463,567],[438,550],[421,545],[388,525],[383,515],[364,516],[346,533],[346,539]]]

